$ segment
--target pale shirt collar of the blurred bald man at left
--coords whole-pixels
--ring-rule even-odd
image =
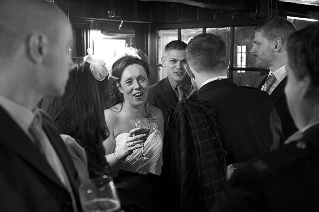
[[[32,111],[1,94],[0,105],[7,111],[11,118],[22,128],[22,130],[28,133],[28,128],[33,120]]]

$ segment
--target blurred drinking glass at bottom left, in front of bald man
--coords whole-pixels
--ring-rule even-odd
[[[85,212],[109,212],[121,206],[111,176],[103,175],[89,180],[81,184],[78,191]]]

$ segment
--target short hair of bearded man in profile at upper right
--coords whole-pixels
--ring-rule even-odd
[[[254,32],[260,32],[268,41],[281,39],[283,44],[286,45],[288,37],[296,30],[295,25],[286,18],[273,17],[259,23]]]

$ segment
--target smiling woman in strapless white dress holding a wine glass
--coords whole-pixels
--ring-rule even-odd
[[[109,108],[105,110],[110,136],[103,142],[115,183],[129,184],[130,188],[126,189],[134,191],[132,201],[144,201],[137,203],[144,206],[150,203],[146,201],[151,195],[145,193],[152,189],[148,179],[154,182],[154,176],[161,174],[164,128],[162,112],[148,102],[150,75],[149,65],[132,56],[113,63],[112,94]],[[136,119],[146,119],[146,127],[134,127]],[[141,129],[144,131],[139,134]],[[147,159],[140,158],[141,148]],[[117,188],[121,195],[120,186]],[[140,198],[137,198],[138,192]]]

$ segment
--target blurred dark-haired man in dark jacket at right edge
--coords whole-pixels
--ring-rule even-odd
[[[211,211],[317,211],[319,202],[319,25],[287,42],[288,108],[299,129],[282,148],[234,172]]]

